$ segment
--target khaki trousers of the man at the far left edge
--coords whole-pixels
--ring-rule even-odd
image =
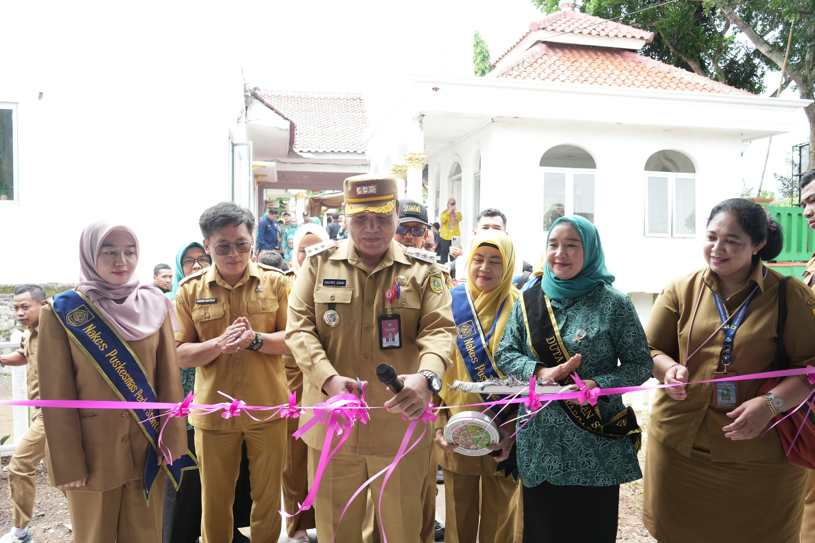
[[[14,449],[8,462],[8,490],[14,505],[15,528],[25,528],[34,511],[34,478],[37,464],[46,456],[46,430],[40,410],[34,412],[31,426]]]

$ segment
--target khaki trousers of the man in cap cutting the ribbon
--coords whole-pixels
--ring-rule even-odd
[[[320,451],[309,448],[309,480],[314,480]],[[403,457],[388,479],[382,495],[381,518],[390,543],[420,543],[422,526],[422,488],[427,477],[430,453],[422,447]],[[317,491],[315,509],[317,515],[317,538],[319,541],[361,543],[363,541],[363,521],[367,501],[365,492],[346,510],[340,522],[340,515],[350,497],[369,477],[388,466],[393,455],[357,455],[337,453],[328,462]],[[379,497],[384,475],[371,483],[374,510],[379,509]],[[377,519],[378,520],[378,519]]]

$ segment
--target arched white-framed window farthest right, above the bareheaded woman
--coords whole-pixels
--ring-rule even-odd
[[[694,162],[665,149],[645,161],[645,172],[645,236],[696,236]]]

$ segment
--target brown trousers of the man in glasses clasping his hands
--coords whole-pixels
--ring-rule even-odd
[[[253,543],[277,543],[280,539],[280,485],[286,439],[286,419],[262,424],[202,430],[196,428],[196,453],[201,476],[201,541],[232,541],[232,501],[240,471],[240,455],[246,442],[252,514],[249,530]],[[77,540],[81,541],[81,540]]]

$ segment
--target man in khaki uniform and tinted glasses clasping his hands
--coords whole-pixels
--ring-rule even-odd
[[[284,275],[249,262],[255,224],[246,208],[221,202],[201,214],[199,226],[213,265],[184,278],[175,294],[178,363],[197,367],[196,403],[229,401],[221,391],[248,405],[287,404],[280,358],[290,353],[283,340],[288,308]],[[252,541],[276,543],[286,421],[275,417],[258,422],[245,413],[231,418],[191,413],[189,421],[196,428],[201,465],[203,543],[232,540],[243,442],[252,484]]]

